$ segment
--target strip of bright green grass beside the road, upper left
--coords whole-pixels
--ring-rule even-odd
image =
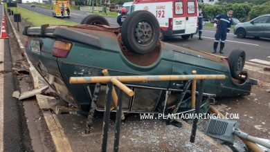
[[[21,17],[24,18],[28,23],[31,23],[32,26],[41,26],[47,23],[50,25],[66,25],[66,26],[78,25],[78,23],[68,21],[68,19],[57,19],[54,17],[48,17],[46,15],[42,15],[37,12],[32,12],[21,7],[17,7],[17,12],[16,8],[10,9],[13,10],[14,13],[21,13]]]

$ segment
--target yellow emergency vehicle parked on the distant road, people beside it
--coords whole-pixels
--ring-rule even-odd
[[[64,8],[64,14],[62,16],[61,9]],[[66,8],[71,10],[69,1],[53,1],[53,17],[71,17],[71,13],[66,11]]]

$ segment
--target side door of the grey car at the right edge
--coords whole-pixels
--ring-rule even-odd
[[[251,21],[251,25],[247,27],[247,35],[251,37],[263,37],[264,31],[265,31],[265,23],[267,22],[267,19],[269,17],[259,17],[258,19],[255,19]]]

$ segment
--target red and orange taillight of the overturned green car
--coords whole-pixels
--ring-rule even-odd
[[[53,44],[53,56],[66,58],[69,55],[72,44],[66,41],[55,41]]]

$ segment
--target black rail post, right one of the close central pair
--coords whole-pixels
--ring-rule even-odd
[[[116,131],[114,132],[114,152],[118,152],[119,150],[119,140],[120,140],[120,126],[121,126],[121,118],[123,115],[122,111],[122,94],[123,92],[118,89],[118,102],[117,102],[117,111],[116,111]]]

